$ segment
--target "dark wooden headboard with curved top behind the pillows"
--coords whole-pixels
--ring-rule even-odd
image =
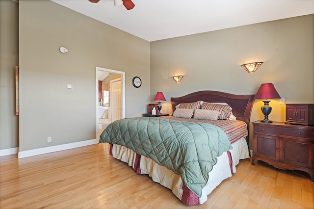
[[[198,91],[183,97],[172,97],[172,110],[175,111],[176,105],[181,103],[192,103],[199,100],[208,103],[227,103],[232,107],[232,113],[236,120],[244,121],[249,130],[251,110],[255,95],[235,95],[219,91]],[[248,142],[248,137],[247,137]]]

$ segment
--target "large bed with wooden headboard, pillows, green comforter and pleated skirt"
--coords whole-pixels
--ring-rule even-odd
[[[207,196],[211,193],[211,191],[218,186],[223,180],[229,178],[232,176],[232,173],[236,172],[236,165],[239,163],[240,159],[245,159],[249,156],[248,152],[248,129],[249,129],[249,120],[250,120],[250,115],[251,115],[251,110],[253,106],[253,100],[254,100],[254,95],[234,95],[234,94],[229,94],[229,93],[224,93],[224,92],[218,92],[218,91],[199,91],[199,92],[194,92],[188,95],[185,95],[183,97],[178,97],[178,98],[171,98],[172,102],[172,109],[173,109],[173,114],[172,116],[163,116],[163,117],[157,117],[157,118],[131,118],[131,119],[122,119],[121,121],[119,120],[117,123],[122,124],[122,127],[127,127],[127,131],[120,131],[121,134],[117,134],[117,130],[115,127],[110,128],[115,131],[114,134],[117,136],[110,135],[108,134],[107,131],[110,130],[105,130],[101,137],[100,137],[100,142],[108,142],[110,143],[110,155],[112,157],[115,157],[119,160],[122,160],[124,162],[127,162],[130,166],[133,167],[134,171],[137,174],[148,174],[154,182],[160,183],[161,185],[169,188],[172,190],[173,194],[179,198],[184,204],[186,205],[197,205],[197,204],[203,204],[204,202],[207,201]],[[191,106],[192,105],[192,106]],[[226,110],[226,106],[230,108],[230,114],[229,111]],[[226,111],[219,111],[217,110],[208,110],[206,107],[212,108],[213,106],[219,106],[224,107]],[[183,108],[186,107],[186,108]],[[202,109],[205,108],[204,110],[198,110],[196,109]],[[186,118],[186,117],[178,117],[179,113],[184,113],[185,112],[193,112],[193,118]],[[219,120],[206,120],[208,118],[204,118],[203,114],[199,114],[199,112],[202,113],[210,113],[213,114],[214,116],[210,115],[209,117],[214,117],[214,118],[219,118]],[[218,113],[217,113],[218,112]],[[228,114],[227,114],[228,112]],[[183,114],[183,115],[184,115]],[[179,114],[180,115],[180,114]],[[201,117],[200,117],[201,115]],[[218,115],[218,116],[217,116]],[[228,120],[223,120],[224,117],[228,117]],[[198,118],[198,119],[195,119]],[[117,142],[117,140],[113,138],[123,138],[126,137],[125,135],[136,135],[134,131],[131,130],[131,126],[129,126],[131,121],[136,121],[136,126],[134,127],[140,127],[138,124],[145,123],[148,124],[146,128],[141,129],[140,131],[135,131],[137,135],[140,135],[140,137],[146,139],[144,140],[144,143],[147,144],[150,143],[154,144],[155,142],[150,142],[152,140],[151,138],[157,137],[158,140],[161,140],[163,146],[165,147],[164,150],[160,150],[160,146],[156,146],[152,148],[148,152],[148,148],[143,148],[142,145],[137,144],[136,142],[135,145],[133,146],[128,146],[131,142],[130,140],[127,142]],[[209,123],[208,123],[209,122]],[[150,124],[153,125],[150,125]],[[213,123],[213,124],[210,124]],[[233,128],[232,124],[237,124]],[[110,126],[110,125],[109,125]],[[108,127],[109,127],[108,126]],[[203,138],[208,136],[210,139],[206,139],[205,141],[213,141],[213,143],[216,143],[216,138],[217,138],[217,144],[214,145],[216,147],[219,147],[219,152],[218,150],[210,150],[210,155],[212,153],[216,153],[217,156],[210,156],[207,155],[209,153],[207,150],[209,149],[207,145],[204,145],[204,141],[201,143],[201,147],[194,147],[197,146],[199,143],[198,141],[193,143],[186,143],[186,144],[193,144],[192,150],[196,150],[198,152],[196,155],[198,157],[201,157],[201,159],[197,159],[196,163],[191,160],[191,159],[182,159],[181,156],[179,157],[177,154],[177,150],[174,152],[171,150],[169,153],[176,153],[174,159],[168,160],[169,157],[164,157],[160,158],[159,153],[166,153],[168,154],[168,147],[174,146],[176,142],[169,142],[169,139],[172,137],[169,136],[170,133],[165,132],[165,131],[160,131],[160,130],[166,130],[168,128],[165,127],[172,127],[171,129],[169,128],[170,132],[174,132],[174,137],[176,140],[178,140],[178,135],[184,135],[183,137],[186,137],[186,135],[192,135],[195,139],[193,140],[199,140],[200,138]],[[178,127],[177,127],[178,126]],[[201,128],[199,129],[199,127]],[[239,127],[241,126],[242,131],[239,131],[239,133],[234,133],[236,131],[230,131],[230,130],[238,130],[240,129]],[[157,131],[151,131],[154,130],[155,127],[156,129],[159,130]],[[243,130],[243,127],[245,127]],[[144,130],[144,131],[143,131]],[[178,131],[182,130],[182,131]],[[184,132],[183,130],[188,130],[191,132]],[[197,131],[195,131],[197,130]],[[200,137],[199,132],[200,130],[205,131],[204,133],[201,132],[202,134]],[[213,132],[209,132],[209,130]],[[193,132],[194,131],[194,132]],[[221,133],[223,132],[223,134]],[[133,134],[134,133],[134,134]],[[181,134],[182,133],[182,134]],[[124,136],[122,136],[124,135]],[[152,137],[153,136],[153,137]],[[167,137],[167,139],[165,139]],[[191,137],[191,136],[189,136]],[[222,137],[222,139],[219,139],[219,137]],[[213,138],[213,139],[212,139]],[[228,140],[228,145],[225,144],[225,138]],[[139,140],[139,139],[136,139]],[[179,139],[178,141],[180,141]],[[184,138],[181,141],[186,142],[186,139]],[[220,142],[221,140],[221,142]],[[159,143],[159,142],[158,142]],[[211,143],[211,142],[210,142]],[[180,149],[184,147],[184,149],[189,149],[190,146],[187,146],[186,144],[179,145]],[[223,144],[223,145],[222,145]],[[209,144],[209,147],[214,147],[213,145]],[[129,147],[129,148],[128,148]],[[135,148],[134,148],[135,147]],[[141,149],[138,150],[137,148],[140,147]],[[223,148],[222,148],[223,147]],[[147,149],[147,150],[145,150]],[[171,148],[172,149],[172,148]],[[206,154],[204,154],[204,150],[206,150]],[[183,149],[182,149],[183,150]],[[181,150],[180,150],[181,151]],[[182,151],[183,152],[183,151]],[[190,154],[191,151],[187,151],[189,154],[186,156],[192,156]],[[148,154],[149,153],[149,154]],[[154,153],[153,156],[151,156],[151,153]],[[200,154],[201,153],[201,154]],[[170,155],[170,154],[169,154]],[[204,158],[210,158],[209,160],[204,160],[203,156],[206,156]],[[185,156],[184,156],[185,157]],[[171,157],[170,157],[171,158]],[[167,165],[166,161],[170,161],[171,165]],[[185,161],[184,161],[185,160]],[[194,170],[198,169],[198,167],[192,167],[193,174],[190,175],[190,171],[183,170],[187,169],[186,164],[183,163],[183,165],[176,165],[177,161],[179,164],[184,161],[185,162],[193,162],[193,166],[199,166],[200,167],[200,172],[201,175],[196,173],[194,175]],[[206,165],[202,165],[200,161],[203,163],[205,161]],[[210,162],[207,162],[210,161]],[[195,165],[196,164],[196,165]],[[209,165],[210,164],[210,165]],[[209,165],[209,168],[208,168]],[[177,166],[177,167],[176,167]],[[179,166],[179,167],[178,167]],[[204,179],[202,179],[204,178]]]

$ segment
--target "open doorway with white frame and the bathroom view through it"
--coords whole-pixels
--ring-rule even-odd
[[[101,78],[103,74],[107,74],[108,78]],[[117,78],[118,77],[118,78]],[[113,79],[116,78],[116,79]],[[108,85],[109,89],[103,91],[102,89],[102,101],[100,102],[99,79],[104,79],[105,86]],[[108,93],[108,94],[107,94]],[[107,94],[107,95],[106,95]],[[108,97],[108,98],[106,98]],[[107,103],[107,104],[106,104]],[[103,113],[106,109],[107,112]],[[112,111],[113,110],[113,111]],[[100,114],[103,115],[100,115]],[[113,116],[113,117],[112,117]],[[116,71],[101,67],[96,67],[96,133],[97,139],[104,131],[107,124],[103,124],[104,121],[111,123],[115,120],[125,118],[125,72]]]

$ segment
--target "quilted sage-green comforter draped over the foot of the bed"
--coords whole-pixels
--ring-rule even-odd
[[[232,149],[220,128],[162,118],[126,118],[107,126],[99,142],[118,144],[155,160],[175,174],[198,197],[217,157]]]

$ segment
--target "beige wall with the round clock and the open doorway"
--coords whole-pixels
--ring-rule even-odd
[[[96,67],[125,72],[126,117],[141,116],[150,83],[131,80],[150,79],[149,42],[50,0],[19,4],[20,151],[96,139]]]

